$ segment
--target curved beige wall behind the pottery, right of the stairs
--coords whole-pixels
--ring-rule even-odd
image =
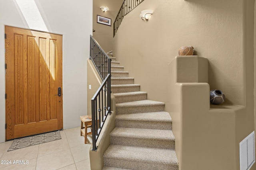
[[[210,88],[222,90],[227,103],[244,105],[243,2],[146,0],[124,17],[114,37],[114,57],[149,98],[162,100],[168,86],[159,82],[168,77],[168,63],[181,46],[192,45],[196,55],[209,60]],[[154,10],[148,22],[139,18],[144,9]]]

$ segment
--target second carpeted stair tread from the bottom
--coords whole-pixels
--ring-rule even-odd
[[[170,140],[170,141],[175,140],[171,130],[159,130],[159,129],[138,129],[138,128],[116,127],[110,133],[110,136],[152,139],[152,140]]]

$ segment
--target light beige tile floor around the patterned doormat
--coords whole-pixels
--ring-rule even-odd
[[[60,131],[60,135],[60,140],[9,152],[12,141],[0,143],[0,170],[90,170],[92,136],[84,144],[80,127]],[[13,164],[16,160],[21,164]]]

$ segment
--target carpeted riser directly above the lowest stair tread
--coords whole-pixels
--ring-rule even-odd
[[[133,147],[148,147],[160,149],[175,149],[175,141],[156,140],[156,139],[138,139],[132,137],[112,137],[110,135],[110,143],[112,145],[125,145]]]

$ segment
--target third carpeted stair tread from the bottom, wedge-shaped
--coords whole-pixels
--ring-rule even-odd
[[[116,115],[116,120],[162,121],[172,123],[172,118],[166,111]]]

